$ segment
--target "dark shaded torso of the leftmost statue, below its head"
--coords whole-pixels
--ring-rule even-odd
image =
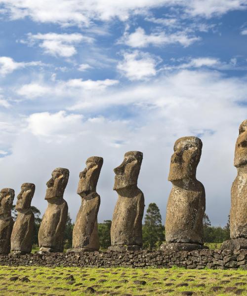
[[[10,253],[10,236],[13,223],[12,217],[9,217],[7,220],[0,218],[0,254]]]

